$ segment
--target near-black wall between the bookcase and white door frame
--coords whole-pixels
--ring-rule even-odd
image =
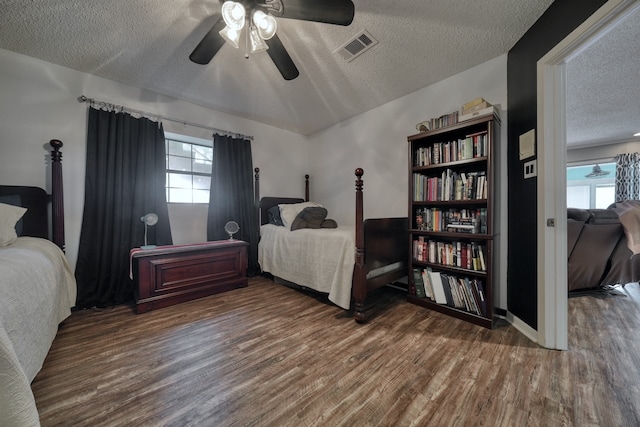
[[[537,178],[523,178],[519,136],[536,128],[536,62],[600,8],[605,0],[556,0],[507,56],[509,254],[507,306],[534,329],[537,318]],[[537,134],[536,129],[536,134]],[[531,160],[531,159],[527,159]]]

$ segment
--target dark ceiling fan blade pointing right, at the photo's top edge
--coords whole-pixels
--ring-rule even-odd
[[[351,0],[264,0],[274,16],[334,25],[351,25],[355,8]]]

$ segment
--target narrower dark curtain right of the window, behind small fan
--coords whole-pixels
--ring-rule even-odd
[[[207,240],[224,240],[227,221],[240,231],[233,237],[249,243],[247,275],[258,272],[258,216],[253,192],[251,141],[214,135]]]

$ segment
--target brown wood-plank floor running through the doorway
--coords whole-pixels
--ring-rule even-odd
[[[638,426],[640,289],[569,299],[570,350],[404,301],[366,325],[249,287],[149,313],[81,311],[33,391],[43,426]]]

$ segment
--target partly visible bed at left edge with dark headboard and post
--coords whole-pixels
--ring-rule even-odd
[[[49,195],[37,187],[0,186],[0,425],[39,425],[31,381],[58,325],[75,305],[76,282],[64,247],[59,148],[52,141],[54,242]],[[26,212],[22,214],[23,209]],[[20,220],[18,221],[18,217]]]

